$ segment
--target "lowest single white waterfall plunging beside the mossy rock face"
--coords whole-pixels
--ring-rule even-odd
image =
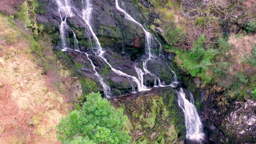
[[[180,88],[180,91],[178,92],[178,104],[184,112],[187,131],[186,138],[200,141],[204,137],[203,124],[200,121],[196,107],[190,101],[186,99],[186,94],[183,88]]]

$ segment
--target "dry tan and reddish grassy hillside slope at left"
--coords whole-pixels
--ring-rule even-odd
[[[59,142],[56,125],[68,104],[41,74],[30,39],[0,15],[0,144]]]

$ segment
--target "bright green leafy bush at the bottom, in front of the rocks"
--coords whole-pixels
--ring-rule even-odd
[[[128,144],[131,137],[122,131],[125,125],[122,113],[99,93],[91,93],[80,111],[69,112],[61,119],[57,137],[62,143],[70,144]]]

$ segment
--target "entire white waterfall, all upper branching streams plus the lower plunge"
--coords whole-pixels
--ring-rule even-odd
[[[74,35],[74,49],[75,49],[75,51],[81,52],[81,51],[78,50],[79,49],[78,46],[77,46],[78,41],[76,39],[75,33],[66,24],[66,18],[67,17],[72,17],[72,16],[77,17],[77,16],[79,16],[79,18],[82,18],[82,20],[84,22],[79,20],[79,18],[77,17],[78,20],[86,28],[89,29],[89,32],[92,34],[93,39],[94,39],[94,41],[96,43],[96,48],[97,48],[97,52],[95,53],[96,56],[98,56],[101,59],[103,59],[108,64],[108,66],[112,69],[112,71],[115,72],[117,75],[120,75],[122,77],[126,77],[128,79],[131,79],[133,82],[135,82],[137,84],[137,86],[138,86],[138,91],[139,92],[151,90],[151,88],[147,88],[143,84],[143,75],[144,74],[153,75],[147,69],[147,62],[151,58],[154,58],[154,55],[151,53],[151,48],[153,46],[154,39],[157,42],[158,42],[158,40],[156,38],[154,38],[154,36],[151,33],[149,33],[146,29],[144,29],[144,27],[140,23],[138,23],[128,13],[126,13],[125,10],[121,9],[118,6],[118,0],[115,0],[116,8],[118,10],[120,10],[122,13],[125,13],[125,18],[127,20],[131,20],[134,23],[137,23],[139,26],[141,26],[142,29],[144,30],[144,33],[145,33],[145,37],[146,37],[146,40],[145,40],[146,41],[146,44],[145,44],[145,49],[146,49],[145,50],[145,54],[148,55],[148,59],[146,59],[143,62],[143,70],[144,70],[144,72],[141,69],[139,69],[138,67],[135,66],[135,71],[138,74],[138,79],[135,76],[128,75],[128,74],[126,74],[124,72],[121,72],[120,70],[117,70],[117,69],[113,68],[112,65],[110,65],[108,63],[107,59],[105,59],[105,57],[104,57],[104,52],[105,51],[102,50],[102,47],[101,47],[101,45],[100,45],[100,43],[98,41],[98,38],[95,35],[95,33],[93,32],[92,26],[90,25],[90,17],[91,17],[91,14],[92,14],[92,4],[91,4],[90,0],[85,0],[85,1],[82,0],[83,9],[82,9],[82,12],[80,12],[81,14],[79,14],[79,12],[75,9],[75,7],[72,7],[71,3],[68,0],[56,0],[56,1],[57,1],[57,4],[58,4],[58,7],[59,7],[59,15],[60,15],[60,18],[62,20],[62,22],[60,24],[60,37],[61,37],[61,40],[62,40],[62,48],[63,48],[62,50],[63,51],[70,50],[69,34],[68,34],[68,30],[69,30]],[[124,7],[124,4],[123,4],[123,7]],[[73,14],[72,10],[75,10],[76,14]],[[62,16],[63,13],[64,13],[65,16]],[[64,18],[64,20],[63,20],[63,18]],[[90,37],[89,37],[89,41],[90,41],[90,45],[92,46],[92,41],[91,41]],[[94,75],[96,75],[96,77],[98,78],[99,82],[101,83],[101,85],[102,85],[102,87],[104,89],[105,96],[109,97],[111,95],[109,86],[104,82],[102,76],[99,75],[98,72],[95,70],[95,65],[93,64],[92,60],[89,58],[89,54],[87,54],[86,52],[83,52],[83,53],[85,53],[87,59],[89,59],[91,65],[93,67],[93,70],[95,71]],[[160,49],[159,49],[159,55],[161,55],[161,44],[160,44]],[[174,82],[173,83],[178,83],[177,76],[176,76],[175,72],[172,69],[171,69],[171,71],[174,73]],[[173,85],[173,83],[170,84],[170,85],[161,85],[160,79],[157,76],[155,76],[155,75],[153,75],[153,76],[155,77],[155,79],[154,79],[154,87],[158,87],[158,86],[160,86],[160,87],[164,87],[164,86],[175,87]],[[158,80],[158,86],[157,86],[157,80]],[[131,85],[132,85],[132,83],[131,83]],[[133,85],[132,85],[132,92],[135,92],[135,88],[134,88]],[[180,88],[180,91],[178,92],[178,104],[179,104],[179,106],[182,108],[182,110],[184,112],[185,125],[186,125],[186,130],[187,130],[186,137],[189,138],[189,139],[196,139],[196,140],[203,139],[203,137],[204,137],[203,125],[200,122],[199,115],[198,115],[197,110],[196,110],[196,108],[194,106],[193,95],[190,93],[190,101],[188,101],[186,99],[186,95],[185,95],[184,90],[182,88]]]

